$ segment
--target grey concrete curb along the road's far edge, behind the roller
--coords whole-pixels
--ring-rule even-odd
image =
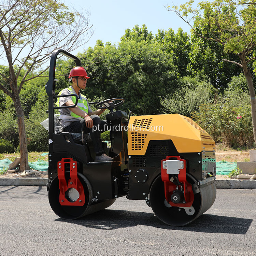
[[[2,178],[0,186],[46,186],[48,178]],[[256,189],[256,180],[215,180],[216,188]]]

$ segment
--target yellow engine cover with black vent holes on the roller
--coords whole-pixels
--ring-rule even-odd
[[[131,116],[128,154],[145,155],[150,140],[172,140],[179,153],[215,150],[211,136],[189,117],[180,114]]]

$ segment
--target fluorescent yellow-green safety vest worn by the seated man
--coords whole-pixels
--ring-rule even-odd
[[[72,86],[70,86],[70,87],[67,88],[67,89],[71,91],[71,94],[76,94],[76,93],[75,93],[75,90],[73,89]],[[63,90],[65,90],[65,89],[63,89]],[[61,95],[61,93],[62,93],[63,90],[61,90],[58,95]],[[68,95],[67,95],[67,96],[68,96]],[[83,94],[81,94],[81,93],[80,93],[80,97],[81,97],[82,99],[79,99],[79,100],[78,100],[77,106],[78,106],[81,110],[83,110],[84,112],[86,112],[86,113],[88,114],[88,102],[87,102],[87,99],[86,99],[86,97],[85,97]],[[75,104],[76,97],[75,97],[75,96],[71,96],[71,99],[72,99],[73,103]],[[56,102],[56,105],[57,105],[57,106],[60,106],[59,100],[60,100],[60,98],[57,98],[57,102]],[[71,116],[68,116],[68,115],[60,115],[60,119],[71,119],[72,117],[81,118],[81,116],[76,115],[76,114],[73,113],[72,111],[70,111],[70,115],[71,115]]]

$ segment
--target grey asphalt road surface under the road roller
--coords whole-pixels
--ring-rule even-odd
[[[217,189],[185,227],[160,222],[144,201],[118,198],[75,221],[60,219],[46,187],[0,186],[0,255],[256,255],[256,190]]]

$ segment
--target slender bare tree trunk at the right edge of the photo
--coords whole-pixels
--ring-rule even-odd
[[[253,86],[252,74],[250,69],[247,67],[247,62],[245,61],[245,56],[243,54],[239,55],[242,66],[244,76],[246,78],[249,92],[250,92],[250,100],[251,100],[251,111],[252,111],[252,124],[253,124],[253,137],[256,145],[256,98],[255,98],[255,90]]]

